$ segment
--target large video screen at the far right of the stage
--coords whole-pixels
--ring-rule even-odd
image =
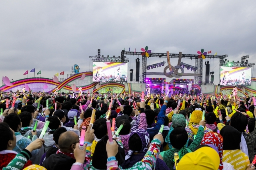
[[[220,85],[251,85],[250,67],[220,67]]]

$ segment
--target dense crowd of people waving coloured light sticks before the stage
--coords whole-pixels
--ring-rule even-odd
[[[17,91],[0,99],[1,170],[255,170],[254,97]]]

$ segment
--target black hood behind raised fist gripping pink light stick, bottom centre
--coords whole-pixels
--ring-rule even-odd
[[[103,136],[103,138],[96,144],[94,153],[92,155],[92,166],[99,170],[107,169],[107,159],[108,155],[106,152],[106,143],[108,142],[108,135]],[[113,140],[116,142],[116,140]],[[118,142],[116,142],[118,144]],[[118,144],[118,153],[116,154],[116,160],[118,161],[118,166],[124,163],[124,149]],[[100,163],[99,163],[100,162]]]

